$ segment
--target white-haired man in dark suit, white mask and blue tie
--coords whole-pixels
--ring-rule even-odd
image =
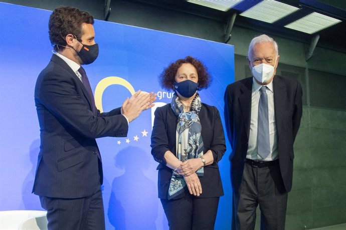
[[[271,37],[253,38],[247,57],[253,77],[228,85],[225,92],[235,229],[255,227],[257,205],[261,229],[285,228],[302,90],[296,80],[275,75],[279,57]]]

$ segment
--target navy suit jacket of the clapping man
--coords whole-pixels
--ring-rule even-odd
[[[120,108],[94,115],[83,83],[55,54],[37,78],[35,104],[41,146],[33,192],[59,198],[93,194],[103,180],[95,138],[127,135]]]

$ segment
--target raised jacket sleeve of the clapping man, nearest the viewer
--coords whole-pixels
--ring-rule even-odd
[[[120,109],[94,116],[77,87],[69,72],[49,71],[42,77],[40,102],[64,123],[89,138],[126,136],[128,124],[126,118],[118,114]]]

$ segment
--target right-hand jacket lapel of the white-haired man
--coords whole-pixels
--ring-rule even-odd
[[[273,79],[273,90],[274,90],[274,111],[275,111],[275,123],[277,136],[280,136],[281,126],[283,121],[283,115],[285,114],[285,95],[286,88],[284,87],[279,76],[274,76]],[[280,111],[280,112],[279,112]]]

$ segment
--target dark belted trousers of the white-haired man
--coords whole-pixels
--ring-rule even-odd
[[[254,229],[256,208],[261,210],[261,229],[285,229],[287,192],[279,164],[254,167],[245,163],[243,179],[233,192],[233,225],[236,229]]]

